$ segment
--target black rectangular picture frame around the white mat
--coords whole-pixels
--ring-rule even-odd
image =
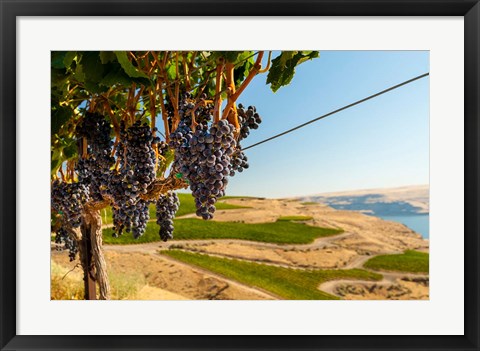
[[[221,6],[219,6],[221,5]],[[0,0],[1,350],[479,350],[479,0]],[[17,16],[464,16],[465,333],[463,336],[16,335]],[[455,123],[452,121],[452,123]]]

